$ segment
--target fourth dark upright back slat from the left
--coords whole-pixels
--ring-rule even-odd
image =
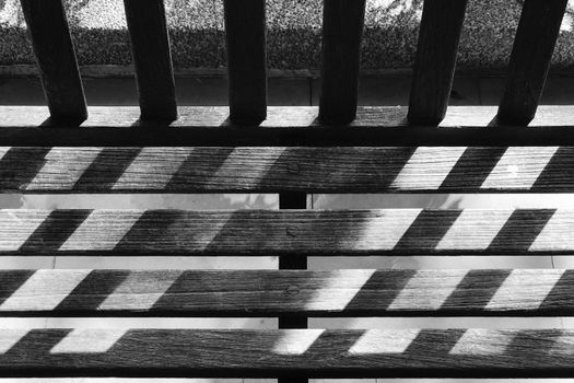
[[[319,119],[350,123],[356,115],[365,0],[325,0]]]

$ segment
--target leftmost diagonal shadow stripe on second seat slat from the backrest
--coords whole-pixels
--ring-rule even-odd
[[[85,221],[92,210],[52,210],[20,246],[22,252],[56,252]]]

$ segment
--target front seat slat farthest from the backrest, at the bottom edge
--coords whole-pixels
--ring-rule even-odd
[[[2,376],[572,378],[565,329],[17,328]]]

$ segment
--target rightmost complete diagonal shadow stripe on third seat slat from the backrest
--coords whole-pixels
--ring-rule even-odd
[[[461,307],[485,307],[499,288],[511,275],[511,270],[491,269],[469,270],[456,289],[441,305],[441,311],[448,315],[449,310],[460,311]],[[460,313],[457,313],[460,315]]]

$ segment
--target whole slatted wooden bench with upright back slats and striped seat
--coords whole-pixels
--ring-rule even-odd
[[[2,329],[1,376],[574,376],[573,330],[304,329],[574,314],[572,270],[306,270],[311,255],[574,251],[572,210],[305,210],[311,193],[573,193],[574,106],[535,116],[566,0],[525,0],[497,109],[448,114],[466,0],[425,1],[408,108],[356,108],[364,0],[325,1],[319,108],[267,107],[265,1],[225,0],[231,113],[176,108],[162,0],[125,3],[141,111],[87,109],[61,1],[22,0],[50,114],[0,107],[0,190],[278,193],[280,210],[0,210],[0,252],[279,255],[281,269],[3,270],[0,315],[281,328]]]

